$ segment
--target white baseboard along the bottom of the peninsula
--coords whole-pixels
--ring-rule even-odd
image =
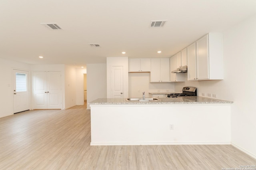
[[[230,142],[160,142],[160,143],[93,143],[91,146],[114,146],[114,145],[203,145],[203,144],[230,144]]]

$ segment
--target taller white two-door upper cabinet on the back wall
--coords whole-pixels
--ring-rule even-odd
[[[151,59],[151,82],[170,82],[170,58]]]

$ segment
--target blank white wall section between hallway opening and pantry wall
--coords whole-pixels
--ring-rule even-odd
[[[88,103],[98,98],[107,98],[107,67],[105,64],[87,64],[87,109]]]

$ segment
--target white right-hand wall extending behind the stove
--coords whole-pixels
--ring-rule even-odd
[[[231,142],[256,158],[256,15],[223,33],[224,80],[176,83],[217,94],[231,105]]]

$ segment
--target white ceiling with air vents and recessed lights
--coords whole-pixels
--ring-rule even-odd
[[[170,57],[255,13],[256,0],[0,0],[0,58],[82,66],[106,57]],[[150,28],[151,20],[168,22]]]

